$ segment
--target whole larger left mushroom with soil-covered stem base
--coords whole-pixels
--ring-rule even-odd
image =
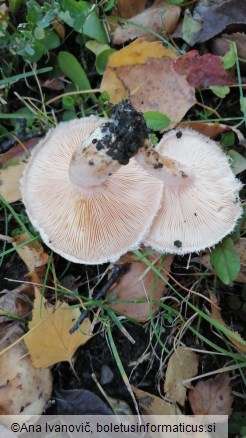
[[[136,248],[160,206],[162,184],[130,160],[147,138],[143,116],[120,105],[111,120],[60,123],[24,171],[31,222],[50,248],[73,262],[114,261]]]

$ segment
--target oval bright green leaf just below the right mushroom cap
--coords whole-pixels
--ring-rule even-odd
[[[240,255],[236,252],[230,237],[216,245],[210,261],[216,275],[224,284],[231,284],[240,271]]]

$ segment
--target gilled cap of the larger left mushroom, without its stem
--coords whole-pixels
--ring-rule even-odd
[[[98,186],[71,182],[73,153],[105,121],[88,117],[51,129],[34,149],[21,182],[27,214],[43,241],[76,263],[114,261],[137,248],[160,206],[162,184],[134,159]]]

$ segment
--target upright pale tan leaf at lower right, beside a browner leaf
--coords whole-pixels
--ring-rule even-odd
[[[183,380],[196,376],[198,362],[198,355],[184,347],[178,347],[170,357],[164,389],[167,397],[172,402],[177,402],[181,406],[184,405],[187,388],[190,387],[190,384],[184,385]]]

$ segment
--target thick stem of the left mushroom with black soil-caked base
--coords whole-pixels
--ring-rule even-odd
[[[128,164],[147,138],[143,115],[128,102],[116,105],[111,119],[97,127],[73,154],[70,180],[79,187],[101,184]]]

